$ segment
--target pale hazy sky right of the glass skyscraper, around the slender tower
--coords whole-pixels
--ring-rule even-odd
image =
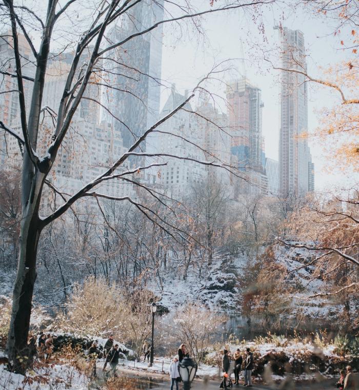
[[[293,0],[294,3],[294,0]],[[246,74],[254,85],[262,89],[263,109],[263,135],[265,137],[266,156],[278,159],[279,141],[279,114],[278,71],[269,68],[268,63],[261,60],[261,50],[253,49],[256,44],[263,50],[273,49],[278,45],[278,31],[273,29],[279,22],[284,27],[304,33],[307,49],[308,73],[320,75],[318,67],[327,68],[343,59],[352,58],[353,54],[340,50],[340,40],[348,36],[347,31],[342,31],[342,37],[330,35],[334,23],[328,19],[318,18],[303,9],[297,8],[294,13],[288,7],[267,6],[262,16],[258,16],[258,22],[263,20],[267,43],[263,42],[263,35],[258,32],[258,23],[254,25],[251,16],[244,12],[229,11],[217,15],[206,16],[203,26],[206,30],[205,39],[196,39],[195,34],[182,31],[182,34],[173,33],[171,27],[164,30],[164,48],[162,77],[176,84],[176,88],[182,91],[191,89],[214,63],[219,63],[227,58],[242,58],[244,60],[233,61],[238,72]],[[180,37],[181,40],[177,40]],[[241,44],[242,42],[242,44]],[[243,49],[241,49],[241,46]],[[338,50],[339,49],[339,50]],[[245,66],[243,66],[245,65]],[[218,93],[223,93],[222,88]],[[323,107],[331,107],[339,101],[339,95],[327,87],[318,87],[313,84],[308,89],[308,130],[313,131],[318,126],[318,112]],[[162,93],[162,105],[168,95],[168,91]],[[309,141],[313,162],[315,163],[315,188],[345,187],[358,177],[345,174],[330,174],[323,171],[326,165],[321,153],[321,145]]]

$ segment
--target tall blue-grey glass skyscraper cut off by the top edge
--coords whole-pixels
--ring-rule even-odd
[[[134,5],[110,31],[109,42],[118,43],[148,29],[163,19],[163,12],[163,0]],[[109,87],[103,88],[102,104],[108,110],[102,110],[101,117],[121,131],[127,148],[158,118],[161,64],[162,25],[106,55],[103,77]]]

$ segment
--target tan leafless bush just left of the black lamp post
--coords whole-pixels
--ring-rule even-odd
[[[62,316],[63,330],[79,335],[108,337],[129,343],[136,357],[151,332],[149,303],[155,299],[146,289],[124,290],[105,279],[90,277],[76,284]]]

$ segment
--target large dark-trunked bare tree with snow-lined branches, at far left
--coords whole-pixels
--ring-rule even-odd
[[[94,83],[97,88],[102,84],[101,79],[96,77],[96,72],[101,69],[101,60],[112,50],[123,47],[127,42],[138,36],[144,36],[155,30],[158,26],[166,23],[179,23],[181,20],[192,20],[194,26],[198,27],[198,18],[201,15],[213,14],[221,11],[233,11],[235,9],[250,9],[251,6],[260,6],[261,4],[271,3],[272,0],[253,0],[252,2],[242,2],[236,0],[230,5],[227,2],[208,2],[203,9],[196,10],[188,2],[184,5],[175,5],[173,2],[164,2],[165,17],[163,20],[153,23],[151,26],[138,29],[138,31],[125,33],[125,36],[119,38],[116,42],[111,42],[106,35],[106,31],[113,26],[117,19],[123,17],[144,0],[111,0],[105,2],[98,0],[89,9],[88,5],[81,8],[81,5],[75,0],[59,2],[58,0],[49,0],[47,9],[41,8],[39,12],[34,12],[22,3],[17,5],[13,0],[3,0],[0,2],[2,10],[2,20],[9,26],[10,33],[4,34],[3,38],[7,40],[13,53],[13,68],[1,69],[3,75],[7,75],[16,80],[16,89],[8,93],[16,94],[19,103],[19,117],[21,122],[20,131],[11,128],[8,122],[0,122],[0,128],[11,134],[19,143],[23,154],[22,161],[22,178],[21,178],[21,227],[19,233],[19,255],[18,271],[13,290],[13,307],[10,331],[7,343],[7,354],[10,361],[17,370],[23,371],[19,357],[25,353],[27,337],[29,332],[29,323],[31,315],[31,302],[33,296],[34,283],[36,279],[36,258],[39,238],[43,229],[61,217],[67,212],[73,204],[81,198],[108,198],[118,201],[128,201],[132,203],[146,218],[150,219],[156,225],[162,227],[169,233],[168,223],[159,218],[150,207],[145,204],[134,201],[128,196],[116,197],[103,194],[98,191],[98,186],[112,179],[126,180],[134,172],[141,172],[155,163],[147,166],[136,167],[134,170],[126,167],[130,157],[170,157],[169,154],[158,155],[155,153],[141,152],[141,147],[146,137],[152,133],[159,125],[165,122],[169,117],[181,110],[195,96],[196,92],[201,90],[202,84],[198,84],[190,95],[178,104],[171,112],[158,120],[149,129],[129,129],[131,133],[132,144],[128,150],[107,163],[102,168],[102,173],[85,184],[80,190],[73,194],[63,194],[58,191],[49,180],[51,169],[58,162],[60,151],[67,146],[71,140],[71,122],[74,115],[81,108],[82,103],[91,101],[93,104],[101,104],[96,98],[87,95],[89,86]],[[158,6],[156,1],[150,1],[150,5]],[[83,12],[84,19],[75,19],[75,15],[81,15]],[[88,17],[87,17],[88,16]],[[30,27],[29,27],[30,26]],[[65,26],[65,27],[64,27]],[[72,29],[71,29],[72,28]],[[49,69],[50,48],[56,48],[56,42],[59,36],[65,36],[64,30],[72,32],[80,29],[81,34],[77,38],[74,47],[73,57],[69,61],[69,67],[65,72],[65,83],[57,108],[43,107],[43,92],[45,85],[45,75]],[[40,36],[39,44],[31,38],[31,34],[37,31]],[[19,47],[19,33],[25,38],[29,47],[31,58],[22,55]],[[71,36],[70,40],[74,35]],[[72,45],[70,42],[69,45]],[[55,49],[56,50],[56,49]],[[57,53],[51,54],[56,57],[63,53],[62,49],[57,49]],[[85,58],[85,61],[83,62]],[[33,62],[34,76],[25,74],[24,66]],[[125,64],[126,67],[126,64]],[[127,77],[130,77],[129,75]],[[101,78],[101,77],[100,77]],[[25,81],[32,83],[32,92],[27,98],[24,88]],[[108,88],[111,86],[107,85]],[[126,92],[126,91],[125,91]],[[27,114],[28,113],[28,114]],[[53,123],[52,134],[44,136],[42,130],[42,114],[50,116]],[[91,114],[91,106],[87,113]],[[111,113],[115,120],[121,121],[121,118]],[[70,138],[69,138],[70,137]],[[39,145],[39,140],[45,139],[43,145]],[[41,153],[41,151],[43,151]],[[178,156],[172,156],[178,158]],[[185,158],[185,157],[182,157]],[[198,161],[206,166],[221,166],[223,163],[211,161]],[[121,169],[120,169],[121,168]],[[230,168],[225,167],[230,170]],[[41,201],[44,197],[44,186],[49,186],[50,191],[57,194],[62,203],[49,215],[42,217],[39,215]],[[155,197],[155,194],[150,194]],[[173,228],[173,227],[172,227]]]

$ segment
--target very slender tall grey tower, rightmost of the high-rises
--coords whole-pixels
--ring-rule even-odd
[[[276,27],[278,28],[278,27]],[[305,69],[304,35],[299,30],[278,28],[283,69]],[[283,196],[303,195],[314,189],[308,131],[308,97],[305,76],[281,71],[280,94],[280,190]]]

